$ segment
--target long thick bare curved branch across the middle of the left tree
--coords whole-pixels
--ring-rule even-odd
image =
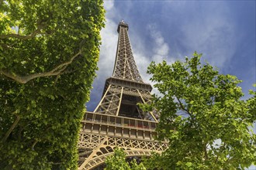
[[[45,73],[33,73],[28,76],[19,76],[16,75],[15,73],[9,73],[9,71],[6,70],[0,70],[0,73],[2,73],[5,76],[8,76],[12,80],[15,80],[18,83],[27,83],[30,80],[36,79],[38,77],[43,77],[43,76],[57,76],[59,75],[62,71],[64,71],[69,64],[71,64],[77,56],[81,54],[81,49],[79,50],[78,53],[74,54],[74,56],[71,57],[70,60],[68,60],[65,63],[61,63],[60,65],[56,66],[53,70],[50,70]]]

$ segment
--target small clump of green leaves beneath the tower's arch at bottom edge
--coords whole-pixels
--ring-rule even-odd
[[[136,160],[126,162],[126,153],[119,148],[115,148],[113,155],[106,158],[106,170],[146,170],[143,163],[137,164]]]

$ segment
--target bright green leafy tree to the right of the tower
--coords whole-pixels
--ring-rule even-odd
[[[151,63],[148,73],[160,96],[145,108],[160,111],[158,140],[169,147],[146,162],[161,169],[244,169],[256,163],[255,92],[249,100],[236,76],[223,75],[194,53],[185,62]]]

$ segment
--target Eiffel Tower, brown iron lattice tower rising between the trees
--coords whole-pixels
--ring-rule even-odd
[[[144,83],[133,58],[128,25],[121,21],[112,76],[106,80],[98,106],[86,112],[78,141],[79,170],[95,169],[112,155],[114,148],[123,148],[130,157],[150,156],[161,152],[166,142],[154,141],[157,116],[144,112],[138,103],[150,102],[152,87]]]

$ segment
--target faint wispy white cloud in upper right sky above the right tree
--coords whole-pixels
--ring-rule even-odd
[[[196,15],[181,26],[183,43],[191,50],[200,50],[209,63],[220,69],[234,56],[236,35],[234,24],[228,19],[228,8],[219,5],[207,6],[206,15]]]

